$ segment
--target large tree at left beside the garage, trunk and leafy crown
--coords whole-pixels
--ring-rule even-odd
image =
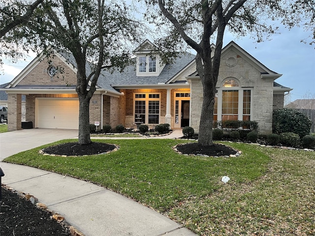
[[[139,39],[139,29],[124,1],[45,0],[27,24],[6,37],[23,38],[33,48],[44,48],[47,55],[54,48],[73,55],[79,97],[78,143],[85,145],[91,143],[89,105],[97,79],[103,69],[126,66],[131,51],[128,45]]]

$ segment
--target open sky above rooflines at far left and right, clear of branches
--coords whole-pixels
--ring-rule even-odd
[[[254,43],[249,37],[236,39],[226,33],[223,46],[233,40],[270,70],[283,74],[276,82],[293,89],[290,92],[291,101],[303,99],[307,93],[315,98],[315,45],[300,42],[310,32],[303,28],[281,28],[280,32],[274,34],[270,41],[262,43]],[[3,59],[0,84],[12,81],[34,57],[35,54],[30,54],[26,61],[20,60],[17,63]]]

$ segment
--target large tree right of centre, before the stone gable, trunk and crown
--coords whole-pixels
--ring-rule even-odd
[[[272,20],[284,17],[288,5],[278,0],[146,0],[146,3],[153,7],[158,5],[160,11],[154,12],[154,19],[159,14],[160,19],[168,20],[153,20],[158,26],[169,23],[164,42],[183,41],[196,51],[196,69],[203,85],[198,143],[212,146],[213,111],[224,32],[229,30],[238,36],[249,33],[258,42],[262,41],[264,35],[277,30],[272,26]],[[211,51],[212,40],[216,44],[214,52]]]

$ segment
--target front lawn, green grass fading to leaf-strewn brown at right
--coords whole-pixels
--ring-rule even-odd
[[[225,143],[242,150],[242,155],[206,158],[172,150],[187,141],[97,142],[120,149],[84,157],[38,154],[51,146],[45,145],[5,161],[98,183],[153,207],[199,235],[315,234],[315,152]],[[222,176],[231,180],[223,184]]]

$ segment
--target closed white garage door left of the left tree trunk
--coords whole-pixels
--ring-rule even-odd
[[[38,98],[38,128],[78,129],[79,99]]]

